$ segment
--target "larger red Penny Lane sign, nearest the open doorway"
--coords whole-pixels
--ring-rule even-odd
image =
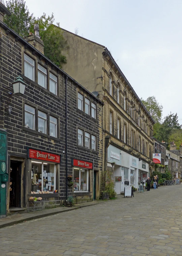
[[[60,155],[29,148],[29,157],[37,160],[60,163]]]

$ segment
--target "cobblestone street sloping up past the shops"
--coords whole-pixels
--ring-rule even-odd
[[[0,229],[0,255],[182,255],[182,186]]]

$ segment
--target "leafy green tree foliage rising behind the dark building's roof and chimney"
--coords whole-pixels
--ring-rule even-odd
[[[4,0],[0,1],[4,4]],[[39,35],[44,42],[44,55],[61,68],[61,64],[66,63],[66,56],[61,52],[67,47],[67,41],[59,23],[57,26],[53,25],[54,15],[47,17],[43,13],[36,19],[29,13],[25,0],[7,0],[5,5],[11,16],[5,15],[4,22],[21,37],[28,36],[29,32],[33,32],[34,24],[39,24]]]

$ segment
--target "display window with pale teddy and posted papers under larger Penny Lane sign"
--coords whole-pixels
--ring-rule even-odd
[[[56,165],[32,161],[31,191],[49,191],[53,193],[56,189]]]

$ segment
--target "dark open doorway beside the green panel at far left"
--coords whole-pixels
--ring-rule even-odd
[[[22,162],[10,162],[9,207],[21,207],[21,166]]]

